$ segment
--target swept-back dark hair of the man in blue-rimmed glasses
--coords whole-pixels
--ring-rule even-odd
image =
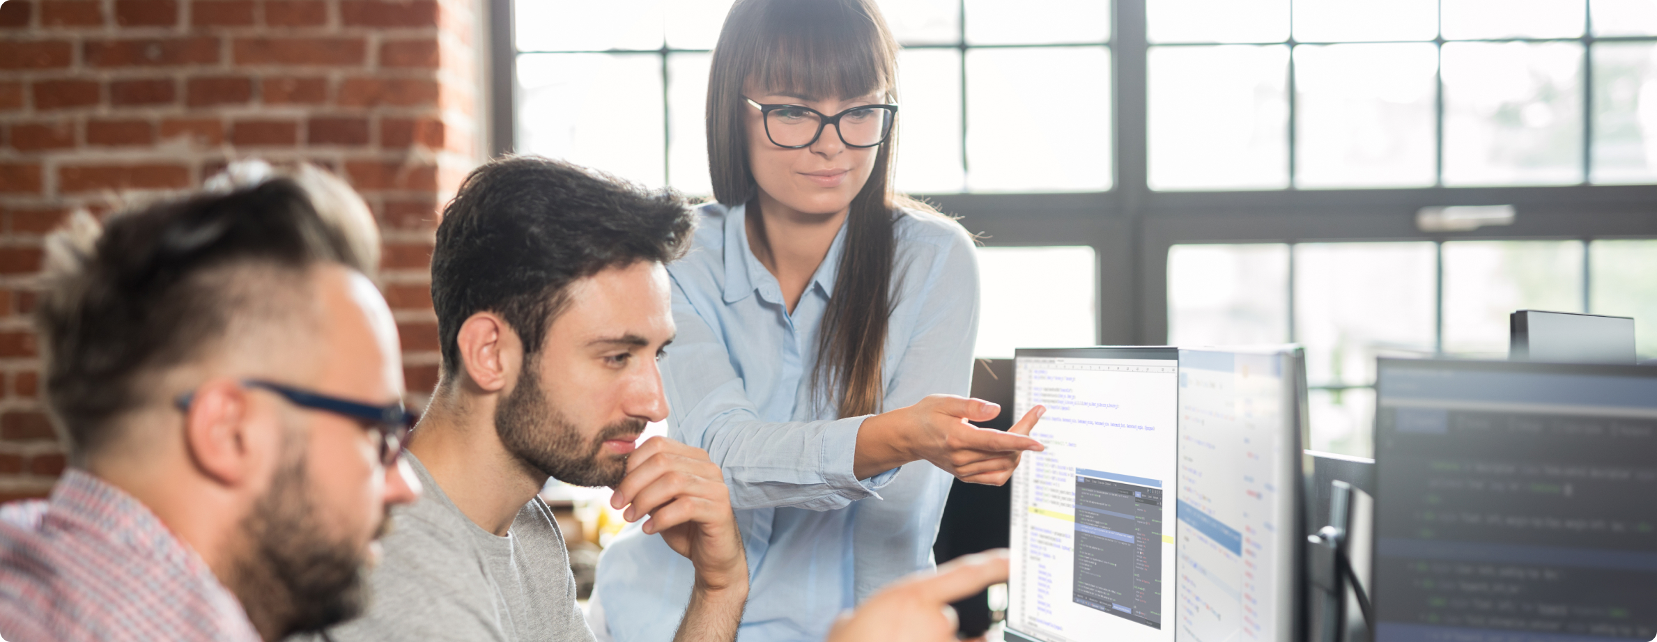
[[[320,261],[363,268],[287,179],[118,213],[101,232],[78,215],[48,240],[35,319],[46,404],[70,452],[83,460],[106,445],[114,419],[154,402],[159,376],[219,347],[232,323],[292,304],[280,286],[249,288],[240,270],[302,283]]]

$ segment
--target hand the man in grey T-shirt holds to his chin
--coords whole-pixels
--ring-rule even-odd
[[[739,589],[734,592],[746,601],[747,559],[731,511],[731,490],[706,450],[651,437],[628,457],[626,477],[610,505],[626,506],[621,513],[626,521],[648,515],[645,533],[661,533],[668,546],[691,559],[698,592]]]

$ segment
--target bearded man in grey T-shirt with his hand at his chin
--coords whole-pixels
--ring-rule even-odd
[[[679,640],[732,640],[747,564],[708,453],[664,437],[656,359],[673,339],[668,273],[691,215],[563,162],[497,159],[444,208],[431,263],[442,374],[408,462],[426,493],[393,515],[368,614],[345,640],[593,639],[547,478],[611,486],[691,559]]]

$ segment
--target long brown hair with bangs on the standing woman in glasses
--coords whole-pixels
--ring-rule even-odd
[[[742,119],[742,84],[749,78],[772,91],[820,98],[882,93],[896,103],[896,69],[898,43],[872,0],[737,0],[719,31],[708,78],[714,197],[741,205],[759,194]],[[812,389],[838,392],[840,417],[880,412],[885,397],[893,220],[900,204],[913,204],[891,190],[895,146],[896,124],[875,152],[868,182],[852,199],[845,250],[819,331]]]

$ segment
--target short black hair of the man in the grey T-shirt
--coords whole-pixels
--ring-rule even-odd
[[[691,228],[689,208],[671,190],[535,156],[479,167],[442,210],[431,256],[444,381],[461,369],[461,324],[472,314],[500,314],[524,354],[535,354],[572,281],[671,261]]]

